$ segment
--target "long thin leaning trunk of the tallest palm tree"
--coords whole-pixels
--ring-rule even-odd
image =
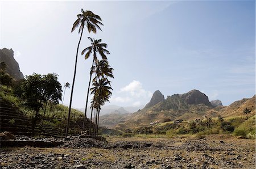
[[[84,28],[82,28],[82,31],[84,31]],[[67,121],[67,128],[66,128],[65,137],[68,136],[68,130],[69,130],[69,121],[70,121],[70,114],[71,114],[73,90],[74,90],[74,84],[75,84],[75,79],[76,79],[77,56],[78,56],[78,52],[79,52],[79,45],[80,45],[81,39],[82,39],[82,32],[81,32],[81,36],[80,36],[80,39],[79,39],[79,44],[77,45],[77,50],[76,50],[75,70],[74,70],[74,77],[73,77],[72,88],[71,88],[71,96],[70,96],[69,109],[68,109],[68,121]]]

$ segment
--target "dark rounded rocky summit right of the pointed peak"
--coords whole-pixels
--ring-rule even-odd
[[[188,104],[205,104],[212,106],[209,102],[208,96],[195,89],[181,95],[181,99]]]

